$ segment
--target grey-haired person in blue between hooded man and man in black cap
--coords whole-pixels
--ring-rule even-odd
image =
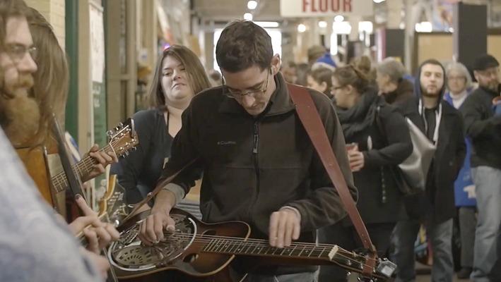
[[[459,109],[471,89],[471,75],[462,63],[449,63],[445,71],[447,75],[447,92],[444,99],[451,106]],[[458,207],[459,236],[461,241],[461,269],[457,273],[460,279],[470,277],[473,268],[473,245],[476,228],[475,185],[471,177],[470,156],[471,141],[465,138],[466,157],[463,167],[454,182],[454,200]]]

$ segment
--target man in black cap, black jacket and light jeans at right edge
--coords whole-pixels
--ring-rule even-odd
[[[500,64],[484,54],[473,61],[478,88],[461,105],[466,135],[471,139],[471,173],[475,183],[477,226],[473,272],[475,282],[489,281],[501,226],[501,114],[494,110],[493,99],[500,99]]]

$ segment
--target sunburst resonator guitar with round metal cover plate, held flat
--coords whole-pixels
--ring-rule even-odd
[[[240,281],[240,277],[230,278],[225,272],[235,255],[259,257],[259,262],[270,264],[336,264],[363,275],[363,268],[371,259],[337,245],[293,242],[290,247],[271,247],[268,240],[249,238],[247,223],[203,223],[181,209],[170,212],[175,232],[165,232],[165,240],[150,247],[137,237],[138,223],[148,214],[149,211],[138,214],[119,226],[120,239],[107,251],[119,279],[145,278],[141,281],[148,281],[145,276],[175,270],[200,278],[197,281]],[[372,274],[364,277],[388,281],[395,269],[396,265],[387,259],[377,259]]]

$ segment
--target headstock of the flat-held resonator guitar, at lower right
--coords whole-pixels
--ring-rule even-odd
[[[373,259],[362,252],[348,252],[341,247],[337,247],[334,252],[331,252],[329,259],[343,269],[357,272],[370,281],[389,281],[396,270],[396,264],[386,258]],[[371,260],[374,261],[372,273],[370,275],[364,274],[363,270],[370,265]]]

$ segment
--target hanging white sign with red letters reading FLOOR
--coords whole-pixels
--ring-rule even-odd
[[[372,0],[281,0],[283,17],[372,16]]]

